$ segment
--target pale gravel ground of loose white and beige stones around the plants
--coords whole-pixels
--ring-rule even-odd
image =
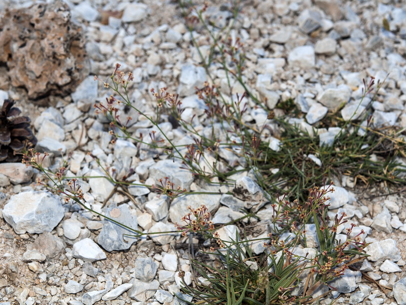
[[[130,99],[137,107],[145,113],[152,112],[155,105],[150,89],[167,87],[168,92],[180,94],[187,109],[185,117],[191,119],[196,114],[196,128],[206,131],[202,119],[205,105],[196,100],[194,87],[202,86],[209,77],[197,68],[200,59],[179,4],[163,0],[64,2],[73,21],[82,28],[89,58],[88,77],[72,95],[61,98],[54,94],[32,103],[26,102],[25,89],[14,87],[6,79],[1,85],[0,104],[10,97],[16,100],[24,115],[30,116],[38,145],[53,151],[47,160],[55,170],[55,164],[61,160],[57,157],[61,149],[70,158],[69,175],[101,175],[93,159],[86,155],[91,151],[118,174],[133,168],[132,180],[146,185],[156,184],[159,177],[168,175],[177,181],[176,185],[188,190],[211,190],[210,186],[194,181],[179,166],[171,165],[172,161],[167,163],[166,156],[157,156],[154,151],[129,141],[111,144],[108,122],[95,115],[91,107],[111,94],[93,81],[93,75],[105,79],[115,63],[120,63],[123,71],[134,74],[129,90]],[[39,3],[3,0],[0,13]],[[228,4],[209,2],[210,21],[227,24],[231,17],[226,10]],[[384,19],[389,28],[383,27]],[[208,37],[200,33],[200,28],[195,34],[201,50],[207,52]],[[358,105],[362,95],[362,79],[374,76],[381,81],[386,78],[373,104],[375,126],[406,128],[406,7],[401,0],[245,1],[231,37],[240,37],[244,43],[247,62],[243,75],[247,86],[269,109],[279,101],[293,98],[307,113],[303,124],[316,125],[328,110],[345,101],[347,105],[341,114],[349,118],[354,112],[351,106]],[[0,69],[4,68],[2,65]],[[221,67],[214,64],[209,70],[221,92],[230,95]],[[232,84],[232,95],[243,92],[241,85]],[[247,123],[254,122],[257,127],[273,124],[265,111],[256,109],[251,102],[248,107],[244,117]],[[167,118],[163,118],[166,122],[161,128],[174,142],[187,138],[187,133],[173,129]],[[135,113],[131,132],[148,134],[151,130],[152,126]],[[179,235],[142,240],[113,238],[123,231],[80,206],[62,204],[51,195],[37,198],[37,195],[46,196],[38,188],[35,190],[41,192],[33,193],[31,182],[39,175],[37,171],[25,170],[21,164],[0,166],[3,166],[0,167],[0,305],[179,303],[173,298],[179,291],[175,272],[183,270],[187,274],[185,279],[190,278],[187,238]],[[369,248],[367,253],[373,258],[365,261],[361,270],[381,285],[392,288],[406,276],[404,189],[391,189],[395,194],[381,196],[388,192],[383,184],[351,188],[351,181],[343,180],[336,185],[344,191],[342,196],[337,196],[337,208],[332,212],[345,211],[349,223],[364,226],[368,233],[366,241],[380,245],[379,249]],[[156,198],[157,194],[146,188],[129,188],[134,202],[118,205],[127,197],[116,192],[107,200],[113,190],[107,180],[89,179],[81,182],[81,186],[85,201],[94,210],[129,226],[135,223],[134,228],[146,232],[175,230],[174,223],[186,212],[187,204],[197,206],[206,202],[212,211],[221,206],[228,217],[232,212],[220,199],[221,193],[232,188],[219,190],[217,197],[196,195],[195,199],[172,202],[164,197]],[[105,200],[107,208],[103,207]],[[30,204],[21,206],[21,202]],[[47,208],[47,204],[53,204],[52,208]],[[32,218],[29,211],[38,216]],[[218,223],[227,222],[226,217],[217,217]],[[347,283],[347,293],[334,293],[322,303],[328,304],[335,298],[337,303],[345,304],[406,304],[406,280],[403,286],[403,282],[395,285],[393,292],[378,289],[358,273],[348,275],[345,281],[354,281],[354,287]]]

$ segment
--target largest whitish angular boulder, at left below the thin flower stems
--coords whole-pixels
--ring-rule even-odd
[[[3,217],[17,234],[51,232],[65,215],[59,197],[48,192],[22,192],[11,196]]]

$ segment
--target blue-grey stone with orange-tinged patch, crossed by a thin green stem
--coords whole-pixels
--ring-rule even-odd
[[[128,204],[121,204],[118,207],[106,209],[106,216],[127,227],[138,229],[137,216],[131,215]],[[103,229],[97,237],[97,243],[106,251],[127,250],[137,241],[133,235],[134,232],[104,218]]]

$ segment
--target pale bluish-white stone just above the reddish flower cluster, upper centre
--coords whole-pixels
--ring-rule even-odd
[[[202,87],[206,80],[206,71],[203,67],[185,65],[181,69],[178,94],[181,97],[190,96],[195,93],[195,87]]]

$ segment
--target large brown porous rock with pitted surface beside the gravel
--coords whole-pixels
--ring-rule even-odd
[[[28,98],[70,94],[89,73],[82,29],[61,1],[6,10],[0,16],[0,66]]]

